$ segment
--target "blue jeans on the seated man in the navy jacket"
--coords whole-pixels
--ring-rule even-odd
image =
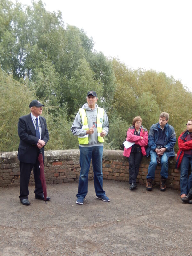
[[[150,155],[151,155],[151,161],[150,161],[149,167],[148,167],[147,179],[154,180],[155,169],[157,166],[157,153],[154,150],[151,150]],[[164,179],[168,178],[168,157],[167,157],[166,153],[163,153],[163,155],[161,156],[161,172],[160,172],[160,174]]]

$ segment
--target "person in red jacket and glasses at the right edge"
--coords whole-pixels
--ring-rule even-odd
[[[179,151],[177,152],[176,168],[180,167],[181,199],[185,197],[192,187],[192,173],[188,178],[188,170],[192,168],[192,119],[187,122],[187,129],[178,138]]]

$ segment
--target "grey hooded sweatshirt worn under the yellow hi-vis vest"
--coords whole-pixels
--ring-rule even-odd
[[[85,103],[82,108],[84,108],[86,110],[88,127],[91,128],[93,126],[94,133],[89,134],[89,144],[79,145],[79,146],[81,146],[81,147],[102,146],[103,143],[100,143],[97,139],[97,108],[98,108],[98,105],[95,104],[95,108],[91,109],[91,108],[89,108],[88,103]],[[106,131],[106,135],[108,134],[109,122],[108,122],[107,114],[105,112],[104,112],[104,120],[103,120],[102,130]],[[73,122],[73,125],[71,127],[71,132],[73,133],[73,135],[76,135],[76,136],[86,135],[86,130],[82,129],[81,116],[79,114],[79,111],[78,111],[78,113],[75,117],[75,120]]]

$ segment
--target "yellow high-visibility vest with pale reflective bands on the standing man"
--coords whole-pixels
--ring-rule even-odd
[[[81,116],[81,123],[82,128],[84,130],[89,130],[88,127],[88,120],[86,116],[86,110],[84,108],[79,108],[79,114]],[[97,139],[99,142],[103,143],[104,139],[100,136],[100,133],[102,131],[102,124],[104,119],[104,109],[103,108],[97,108]],[[86,134],[84,136],[78,136],[79,144],[88,144],[89,143],[89,134]]]

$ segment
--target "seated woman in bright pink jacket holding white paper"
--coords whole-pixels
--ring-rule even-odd
[[[142,126],[142,119],[140,116],[133,118],[132,126],[127,131],[127,141],[135,144],[129,148],[124,148],[123,155],[128,157],[129,161],[129,184],[130,190],[136,188],[136,179],[139,172],[139,164],[142,156],[146,155],[145,146],[148,144],[147,129]]]

